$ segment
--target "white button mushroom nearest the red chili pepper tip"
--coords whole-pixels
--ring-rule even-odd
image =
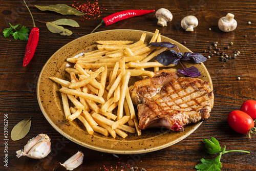
[[[156,12],[156,17],[158,19],[157,24],[159,26],[164,27],[164,26],[167,26],[167,22],[172,21],[173,14],[165,8],[160,8]]]

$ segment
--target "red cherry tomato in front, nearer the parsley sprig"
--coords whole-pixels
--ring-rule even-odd
[[[227,122],[234,131],[240,134],[247,134],[250,129],[254,127],[252,118],[243,111],[230,112],[227,117]]]

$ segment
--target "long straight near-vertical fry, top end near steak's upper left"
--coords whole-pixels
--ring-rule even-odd
[[[119,120],[123,117],[123,102],[124,102],[125,91],[128,87],[128,82],[129,82],[130,76],[131,76],[131,72],[126,72],[123,77],[120,99],[118,101],[117,120]]]

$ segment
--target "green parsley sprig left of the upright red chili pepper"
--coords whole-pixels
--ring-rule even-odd
[[[9,23],[9,25],[11,27],[6,28],[3,31],[5,37],[12,35],[15,40],[17,40],[18,38],[20,40],[28,40],[29,39],[29,34],[28,34],[29,29],[27,29],[25,26],[22,26],[21,24],[12,26],[10,23]],[[20,26],[22,26],[22,27],[20,28]],[[19,28],[19,29],[17,29],[17,28]],[[15,32],[13,32],[13,30],[15,30]]]

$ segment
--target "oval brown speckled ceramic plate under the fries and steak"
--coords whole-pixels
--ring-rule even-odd
[[[60,48],[46,62],[42,68],[37,83],[37,99],[40,109],[49,123],[61,135],[82,146],[95,149],[97,151],[114,154],[139,154],[156,151],[167,146],[173,145],[188,135],[193,133],[201,124],[190,124],[185,127],[184,132],[167,131],[160,128],[142,130],[142,135],[129,134],[125,139],[117,136],[115,139],[111,136],[105,137],[94,133],[89,135],[83,124],[75,119],[73,122],[64,117],[61,95],[58,92],[60,86],[53,82],[49,77],[58,77],[68,79],[69,74],[65,69],[70,66],[66,61],[68,57],[74,57],[82,52],[88,52],[96,49],[97,40],[132,40],[134,42],[140,39],[144,31],[139,30],[109,30],[89,34],[71,41],[69,44]],[[148,43],[153,35],[146,32],[145,42]],[[168,37],[162,36],[162,41],[169,41],[176,44],[181,52],[191,52],[189,49]],[[185,67],[192,64],[184,63]],[[209,81],[212,89],[210,75],[203,63],[193,65],[201,72],[202,80]]]

